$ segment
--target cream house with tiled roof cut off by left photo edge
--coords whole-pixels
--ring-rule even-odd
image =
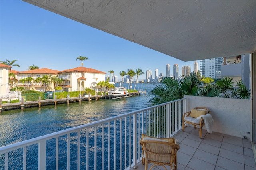
[[[10,91],[9,71],[12,67],[0,63],[0,98],[6,98]]]

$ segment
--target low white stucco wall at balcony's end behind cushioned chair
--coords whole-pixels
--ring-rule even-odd
[[[211,110],[214,119],[212,131],[238,137],[243,137],[245,134],[251,139],[251,100],[187,95],[184,98],[187,99],[187,111],[198,106],[208,107]]]

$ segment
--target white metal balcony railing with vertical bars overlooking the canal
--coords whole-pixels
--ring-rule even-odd
[[[179,99],[3,146],[0,169],[132,169],[141,160],[140,135],[174,135],[185,111]]]

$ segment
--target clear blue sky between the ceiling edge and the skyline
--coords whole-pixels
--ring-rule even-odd
[[[29,66],[62,71],[81,66],[79,56],[88,57],[84,67],[106,72],[138,68],[145,73],[139,79],[146,79],[146,70],[155,69],[166,75],[170,64],[189,65],[193,71],[194,61],[184,62],[159,53],[142,45],[124,40],[112,34],[86,26],[64,16],[44,10],[20,0],[0,0],[0,60],[12,61],[26,71]],[[197,61],[200,65],[200,61]]]

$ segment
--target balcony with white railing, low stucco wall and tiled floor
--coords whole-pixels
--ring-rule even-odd
[[[181,131],[183,113],[198,103],[210,108],[214,118],[214,133],[207,134],[204,130],[203,139],[192,127]],[[141,133],[178,139],[178,169],[256,169],[254,144],[249,140],[252,137],[250,105],[251,101],[245,99],[185,96],[3,146],[0,148],[0,169],[29,169],[31,163],[27,160],[31,160],[31,156],[33,166],[40,170],[144,169],[139,145]],[[14,160],[19,163],[14,165]]]

